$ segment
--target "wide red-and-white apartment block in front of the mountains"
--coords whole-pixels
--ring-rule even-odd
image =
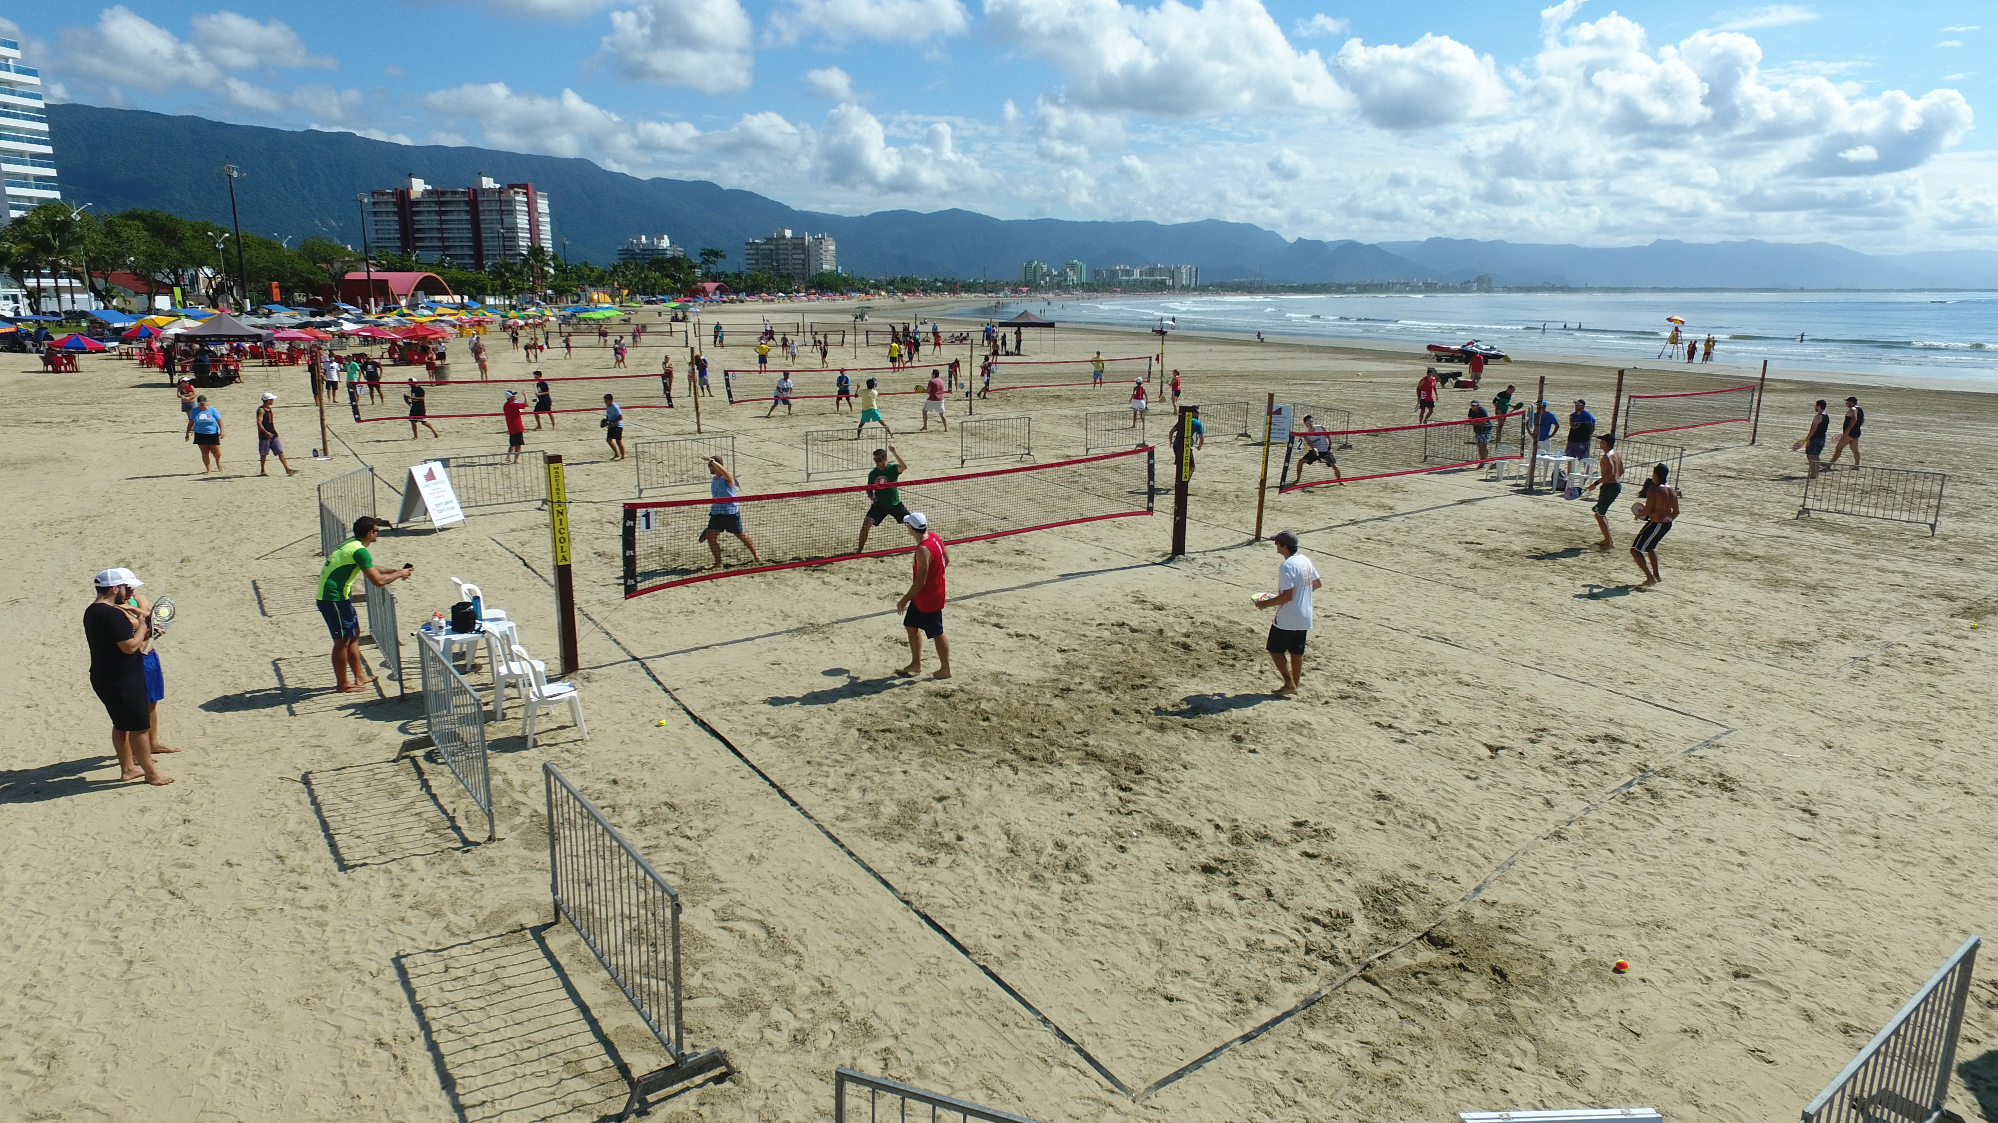
[[[533,184],[480,176],[470,188],[434,188],[410,176],[400,188],[368,194],[368,220],[370,250],[420,262],[484,270],[525,258],[529,246],[555,252],[547,194]]]

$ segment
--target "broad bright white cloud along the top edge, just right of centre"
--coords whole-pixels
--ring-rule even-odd
[[[995,32],[1053,62],[1079,106],[1157,116],[1347,106],[1319,52],[1299,52],[1257,0],[985,0]]]

